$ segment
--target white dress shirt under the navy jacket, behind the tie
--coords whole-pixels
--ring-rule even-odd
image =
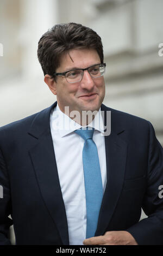
[[[83,245],[83,240],[86,238],[86,200],[82,158],[85,141],[74,133],[74,130],[80,129],[82,126],[64,114],[58,105],[51,113],[50,126],[60,187],[66,209],[70,245]],[[104,126],[100,111],[88,126],[95,128],[93,141],[95,141],[98,149],[103,190],[105,190],[105,141],[104,136],[102,136]]]

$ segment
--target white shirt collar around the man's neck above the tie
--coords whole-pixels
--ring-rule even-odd
[[[54,108],[53,113],[51,114],[51,122],[52,129],[58,130],[61,137],[66,136],[74,132],[74,130],[82,128],[79,123],[73,121],[70,117],[68,117],[64,112],[62,112],[57,104]],[[83,126],[83,128],[86,126]],[[95,128],[98,132],[104,133],[104,124],[103,118],[101,114],[101,108],[97,112],[95,118],[91,123],[89,123],[88,127]]]

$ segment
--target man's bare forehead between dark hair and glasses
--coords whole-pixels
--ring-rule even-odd
[[[65,72],[73,68],[87,68],[98,63],[101,61],[96,50],[73,49],[61,56],[57,72]]]

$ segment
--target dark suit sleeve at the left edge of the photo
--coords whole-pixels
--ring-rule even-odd
[[[10,245],[8,238],[9,228],[12,220],[8,217],[11,214],[11,198],[7,165],[5,164],[0,149],[0,245]]]

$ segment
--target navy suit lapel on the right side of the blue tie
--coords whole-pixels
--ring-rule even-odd
[[[110,109],[107,108],[107,110]],[[96,236],[104,234],[111,221],[121,194],[126,170],[127,143],[121,140],[117,133],[114,133],[114,130],[116,129],[113,120],[111,134],[105,136],[107,183],[99,213]]]

